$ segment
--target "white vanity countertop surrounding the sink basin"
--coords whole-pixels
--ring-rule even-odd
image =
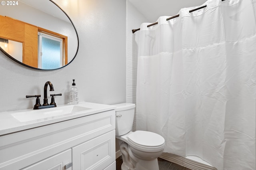
[[[70,106],[70,105],[58,105],[57,107],[54,107],[54,108],[56,109],[58,109],[58,107],[65,108],[65,106]],[[103,105],[103,104],[88,103],[88,102],[79,102],[75,106],[86,107],[90,109],[85,111],[78,111],[76,113],[68,113],[64,115],[57,115],[52,117],[46,117],[43,119],[36,119],[36,120],[23,121],[23,122],[16,119],[15,115],[20,114],[26,117],[26,113],[30,112],[31,114],[32,111],[42,111],[42,110],[47,111],[47,109],[53,109],[53,108],[40,109],[40,110],[25,109],[25,110],[18,110],[18,111],[2,112],[0,113],[0,135],[12,133],[12,132],[18,132],[18,131],[26,130],[29,128],[49,125],[52,123],[58,123],[61,121],[67,121],[69,119],[75,119],[78,117],[88,116],[88,115],[92,115],[92,114],[100,113],[104,111],[110,111],[116,108],[114,105]]]

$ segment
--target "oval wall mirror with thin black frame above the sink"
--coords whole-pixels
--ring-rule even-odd
[[[2,1],[0,50],[33,69],[54,70],[71,63],[78,52],[76,28],[52,0]]]

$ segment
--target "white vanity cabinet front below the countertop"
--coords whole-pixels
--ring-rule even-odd
[[[0,170],[115,170],[115,110],[0,136]]]

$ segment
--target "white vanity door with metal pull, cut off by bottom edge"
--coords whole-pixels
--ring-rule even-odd
[[[72,162],[71,154],[71,149],[68,149],[22,170],[72,170],[72,167],[65,168],[65,165]]]

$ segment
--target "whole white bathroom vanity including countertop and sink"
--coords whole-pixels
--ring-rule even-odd
[[[115,170],[115,107],[0,113],[0,170]]]

